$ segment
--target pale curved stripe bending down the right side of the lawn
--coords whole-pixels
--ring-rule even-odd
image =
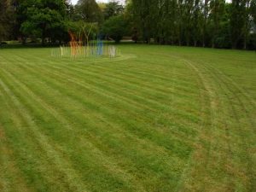
[[[195,67],[193,63],[185,60],[183,61],[193,70],[195,70],[195,72],[199,76],[199,79],[201,79],[201,84],[205,89],[205,93],[207,94],[209,101],[209,113],[205,113],[209,117],[205,118],[205,120],[207,119],[207,121],[204,122],[207,127],[202,127],[201,134],[198,137],[200,145],[195,150],[194,154],[192,154],[192,158],[190,160],[190,171],[186,173],[187,179],[183,184],[182,191],[204,191],[205,186],[208,183],[205,171],[209,166],[209,154],[212,153],[212,133],[214,133],[216,128],[216,102],[218,102],[218,100],[213,89],[213,84],[209,79],[207,79],[205,73],[201,73],[201,70],[198,67]]]

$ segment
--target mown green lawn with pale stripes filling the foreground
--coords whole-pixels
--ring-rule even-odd
[[[0,49],[0,191],[256,191],[256,53],[119,49]]]

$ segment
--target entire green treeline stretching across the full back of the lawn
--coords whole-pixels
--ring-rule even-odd
[[[61,44],[68,32],[117,43],[130,36],[148,44],[256,49],[256,0],[0,1],[0,42]]]

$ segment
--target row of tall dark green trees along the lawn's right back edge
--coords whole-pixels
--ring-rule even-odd
[[[255,49],[256,1],[132,0],[137,33],[146,42]]]

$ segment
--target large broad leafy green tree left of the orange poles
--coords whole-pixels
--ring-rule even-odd
[[[42,44],[45,38],[61,40],[63,32],[67,32],[67,6],[63,0],[30,0],[20,4],[24,7],[26,20],[21,24],[20,31],[26,36],[40,37]]]

